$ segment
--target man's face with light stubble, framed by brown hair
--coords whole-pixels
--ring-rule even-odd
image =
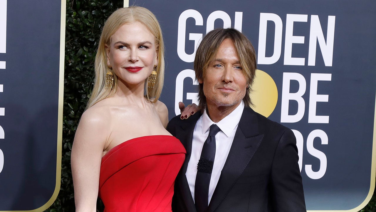
[[[203,83],[208,108],[226,106],[235,109],[240,104],[246,95],[247,80],[232,40],[222,41],[203,80],[198,81]]]

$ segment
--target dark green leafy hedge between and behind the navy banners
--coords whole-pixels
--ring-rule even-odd
[[[74,208],[70,154],[74,132],[93,86],[94,58],[103,23],[123,1],[67,0],[65,31],[64,112],[61,187],[53,205],[45,212],[72,212]],[[98,201],[97,211],[103,211]],[[375,212],[376,201],[361,212]]]

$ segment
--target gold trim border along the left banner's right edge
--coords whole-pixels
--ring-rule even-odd
[[[58,103],[58,136],[56,148],[56,184],[55,190],[47,203],[33,210],[2,210],[1,212],[41,212],[49,208],[58,197],[61,183],[61,151],[62,151],[62,133],[63,133],[63,102],[64,102],[64,56],[65,56],[65,15],[66,0],[61,0],[61,18],[60,18],[60,59],[59,59],[59,103]]]

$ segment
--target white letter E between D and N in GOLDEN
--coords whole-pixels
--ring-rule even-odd
[[[294,36],[294,22],[307,22],[308,15],[287,14],[284,65],[304,66],[305,58],[292,57],[293,43],[304,43],[304,36]]]

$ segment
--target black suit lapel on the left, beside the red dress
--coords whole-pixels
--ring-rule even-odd
[[[182,120],[182,125],[176,128],[177,138],[179,138],[186,150],[185,160],[182,168],[180,169],[177,183],[180,187],[180,195],[185,202],[186,208],[190,212],[195,212],[196,207],[194,206],[191,190],[189,188],[185,172],[187,171],[188,161],[191,158],[193,130],[200,116],[200,113],[194,114],[187,120]]]

